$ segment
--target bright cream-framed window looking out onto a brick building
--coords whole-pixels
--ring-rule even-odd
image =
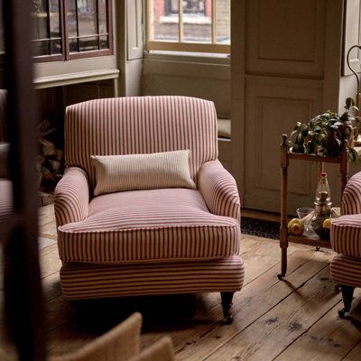
[[[148,51],[230,52],[230,0],[147,0]]]

